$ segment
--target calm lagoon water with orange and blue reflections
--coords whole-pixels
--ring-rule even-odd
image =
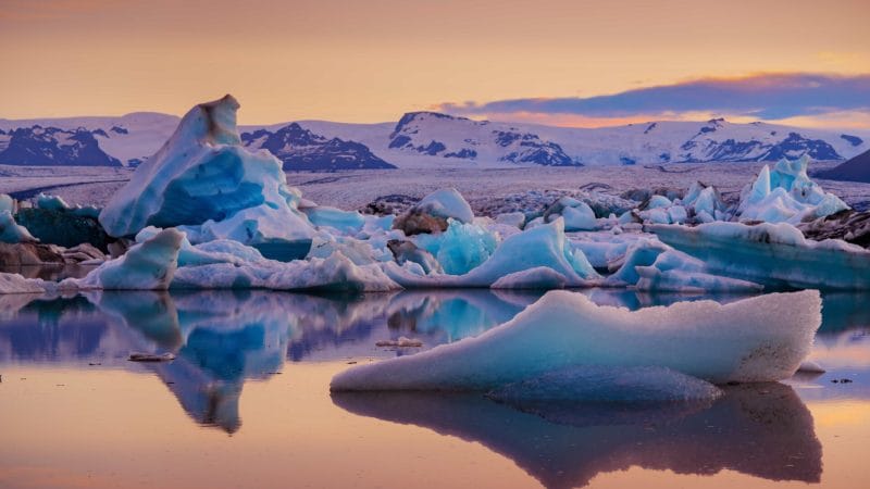
[[[577,293],[631,309],[697,299]],[[477,335],[538,297],[0,296],[0,487],[870,487],[870,296],[825,297],[812,359],[826,374],[733,386],[710,405],[330,394],[350,364]],[[400,336],[424,347],[375,347]]]

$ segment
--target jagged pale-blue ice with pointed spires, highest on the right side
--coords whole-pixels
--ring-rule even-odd
[[[798,224],[849,209],[809,179],[808,164],[809,158],[804,155],[792,161],[782,159],[773,171],[765,165],[741,195],[741,221]]]

